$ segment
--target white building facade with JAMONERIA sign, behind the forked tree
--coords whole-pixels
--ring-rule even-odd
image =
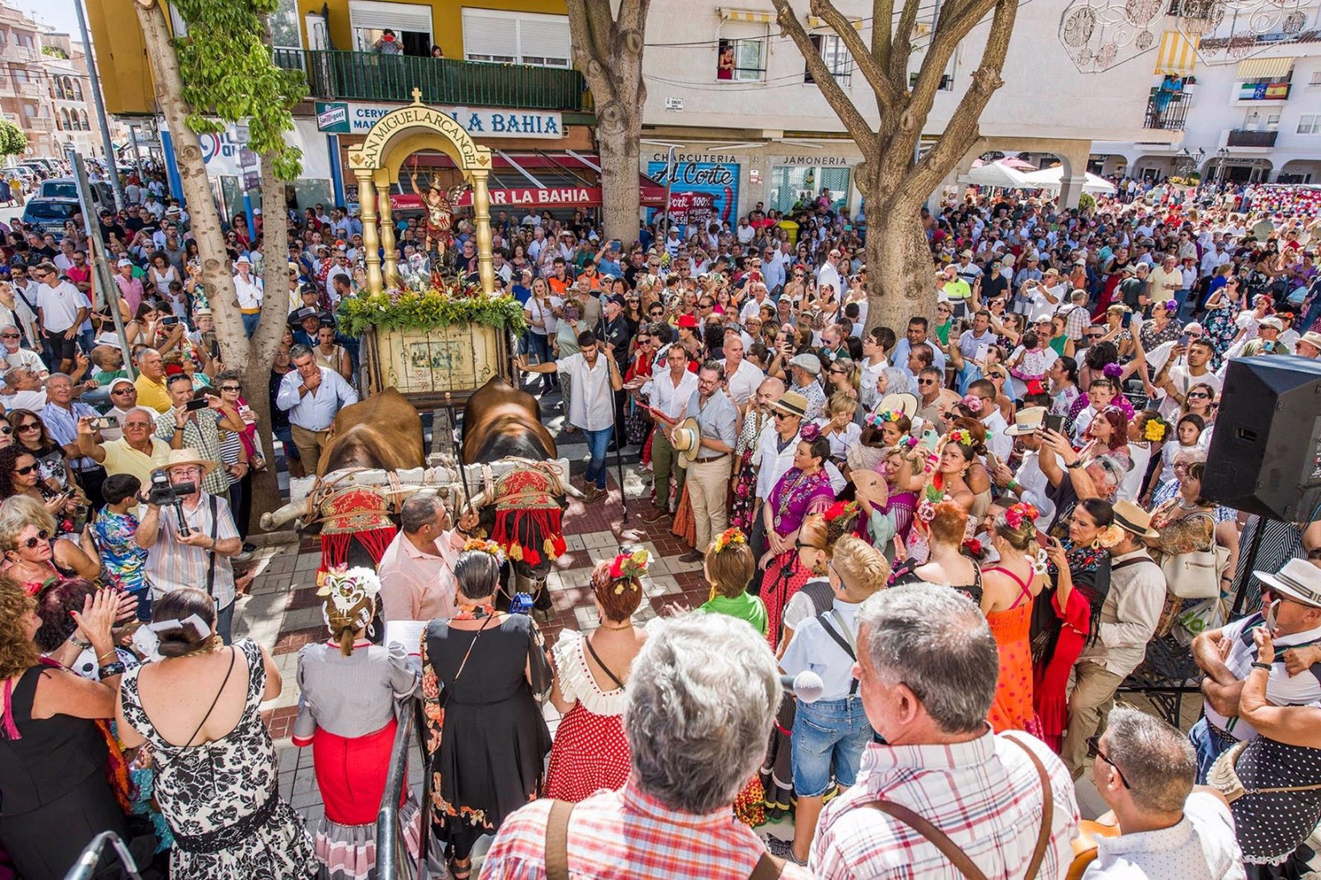
[[[875,125],[876,102],[835,32],[795,0],[799,18],[843,86]],[[915,75],[930,40],[934,11],[923,11],[910,59]],[[838,0],[871,42],[872,4]],[[1104,73],[1079,73],[1059,44],[1061,9],[1050,3],[1022,4],[1003,71],[1004,86],[982,115],[984,142],[964,157],[946,185],[971,168],[978,154],[1032,152],[1053,154],[1065,166],[1066,203],[1077,193],[1098,137],[1136,141],[1156,136],[1168,152],[1178,132],[1144,129],[1149,70],[1119,65]],[[955,112],[985,44],[989,18],[958,47],[927,119],[934,139]],[[641,170],[664,182],[674,149],[672,189],[686,201],[736,223],[758,203],[786,210],[802,195],[831,191],[838,208],[855,214],[859,194],[852,166],[861,153],[811,82],[797,45],[779,34],[770,0],[742,0],[737,8],[713,0],[654,4],[647,21],[643,73],[647,100]],[[682,202],[679,210],[684,208]]]

